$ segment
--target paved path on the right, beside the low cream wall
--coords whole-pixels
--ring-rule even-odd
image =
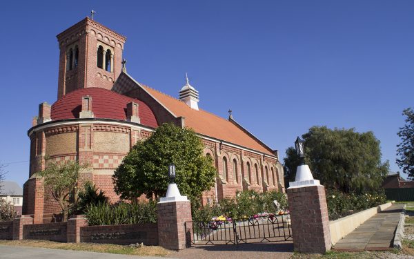
[[[353,232],[339,240],[336,251],[374,251],[393,249],[395,229],[404,204],[393,204],[388,209],[366,220]]]

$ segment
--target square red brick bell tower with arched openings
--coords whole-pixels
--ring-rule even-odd
[[[126,37],[86,17],[57,35],[57,41],[57,99],[79,88],[112,88],[121,73]]]

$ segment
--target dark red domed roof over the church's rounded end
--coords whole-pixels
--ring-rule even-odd
[[[126,104],[135,102],[139,105],[141,124],[157,127],[154,113],[144,102],[103,88],[82,88],[63,96],[52,105],[52,120],[79,118],[82,97],[86,95],[92,97],[92,112],[95,118],[125,120]]]

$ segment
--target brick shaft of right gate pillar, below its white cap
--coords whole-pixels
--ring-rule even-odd
[[[331,249],[328,207],[322,185],[288,188],[295,251],[325,253]]]

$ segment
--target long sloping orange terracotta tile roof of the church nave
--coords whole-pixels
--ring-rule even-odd
[[[185,117],[185,126],[193,128],[197,133],[273,155],[268,148],[260,144],[254,137],[251,137],[227,119],[201,109],[199,111],[194,110],[179,99],[161,93],[149,86],[143,84],[141,86],[174,115]]]

